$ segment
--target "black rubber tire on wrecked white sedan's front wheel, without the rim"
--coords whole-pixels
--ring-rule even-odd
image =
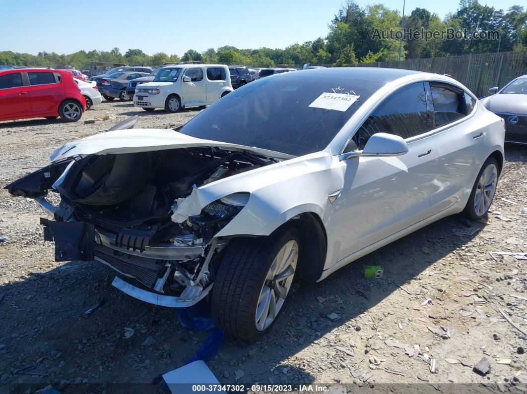
[[[230,335],[255,341],[276,322],[275,318],[265,330],[257,329],[258,298],[273,260],[290,240],[296,240],[301,248],[300,236],[294,227],[280,228],[268,237],[231,240],[211,294],[212,317]]]

